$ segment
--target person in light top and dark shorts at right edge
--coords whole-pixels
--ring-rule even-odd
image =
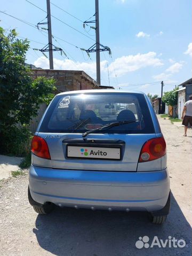
[[[192,126],[192,94],[189,95],[189,100],[184,104],[181,119],[182,125],[185,125],[185,133],[183,136],[186,137],[188,124]]]

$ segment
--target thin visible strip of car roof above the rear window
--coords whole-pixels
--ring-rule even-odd
[[[75,94],[75,93],[138,93],[138,94],[145,94],[141,91],[134,91],[134,90],[130,90],[130,91],[126,91],[126,90],[114,90],[114,89],[99,89],[99,90],[79,90],[79,91],[68,91],[68,92],[61,92],[57,95],[62,95],[62,94]]]

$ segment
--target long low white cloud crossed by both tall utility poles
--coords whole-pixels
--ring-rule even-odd
[[[83,70],[87,74],[95,75],[96,73],[96,63],[91,62],[75,62],[73,60],[59,60],[59,59],[53,59],[53,64],[55,69],[62,69],[62,70]],[[103,60],[101,61],[101,70],[105,70],[107,66],[107,61]],[[49,59],[46,59],[45,57],[38,58],[34,65],[36,67],[41,67],[44,69],[49,69]]]

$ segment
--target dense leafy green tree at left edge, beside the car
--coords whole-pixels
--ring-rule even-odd
[[[0,27],[0,135],[4,145],[14,139],[15,132],[25,134],[25,139],[29,134],[25,127],[37,115],[39,105],[48,104],[54,96],[53,78],[31,78],[25,65],[28,49],[29,41],[17,39],[15,29],[6,35]]]

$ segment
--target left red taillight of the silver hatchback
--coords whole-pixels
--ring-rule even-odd
[[[34,155],[46,159],[51,159],[49,148],[47,146],[46,141],[38,136],[34,136],[31,141],[31,151]]]

